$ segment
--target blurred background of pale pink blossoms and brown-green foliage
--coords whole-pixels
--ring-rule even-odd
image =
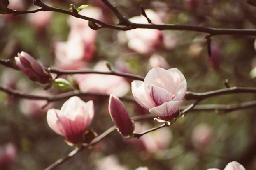
[[[10,9],[36,9],[32,0],[9,0]],[[69,9],[70,3],[89,7],[79,14],[105,23],[118,22],[100,0],[50,0],[49,6]],[[245,0],[110,0],[135,23],[147,23],[140,5],[152,23],[188,24],[214,28],[256,28],[256,7]],[[253,0],[252,0],[253,2]],[[212,57],[208,57],[205,33],[136,29],[128,32],[112,29],[94,31],[86,20],[66,14],[40,11],[35,14],[0,15],[0,58],[14,61],[25,51],[44,67],[62,70],[113,70],[145,76],[154,67],[178,68],[186,77],[188,91],[207,92],[230,86],[256,86],[256,41],[254,36],[213,36]],[[114,93],[130,96],[131,79],[111,75],[69,75],[83,92]],[[0,66],[1,85],[36,95],[56,95],[67,91],[43,87],[20,71]],[[93,100],[95,117],[90,128],[101,134],[114,124],[108,112],[108,98]],[[256,100],[253,94],[212,97],[201,104],[237,104]],[[50,103],[24,100],[0,92],[0,164],[11,170],[42,170],[66,156],[74,148],[48,126],[49,108],[60,109],[65,100]],[[184,100],[182,105],[193,101]],[[148,114],[139,105],[124,102],[130,116]],[[159,123],[135,122],[135,132]],[[190,112],[165,127],[126,140],[118,132],[58,166],[56,170],[206,170],[224,168],[238,161],[247,170],[256,169],[256,110],[244,109],[228,114]]]

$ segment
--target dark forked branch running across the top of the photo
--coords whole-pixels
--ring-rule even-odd
[[[8,9],[8,14],[27,14],[27,13],[35,13],[38,11],[54,11],[59,12],[67,15],[74,16],[71,11],[67,11],[64,9],[49,7],[45,5],[40,0],[34,0],[34,5],[41,7],[41,9],[31,10],[31,11],[16,11],[12,9]],[[128,19],[126,19],[116,7],[110,4],[107,0],[102,0],[119,18],[119,25],[110,25],[106,24],[100,20],[96,20],[94,18],[82,16],[78,14],[77,18],[81,18],[84,20],[92,21],[93,23],[97,23],[102,26],[102,28],[109,28],[109,29],[116,29],[116,30],[123,30],[128,31],[131,29],[158,29],[158,30],[183,30],[183,31],[195,31],[195,32],[204,32],[210,35],[244,35],[244,36],[256,36],[255,29],[219,29],[219,28],[210,28],[210,27],[202,27],[202,26],[194,26],[194,25],[175,25],[175,24],[140,24],[140,23],[132,23]],[[120,20],[121,19],[121,20]],[[123,26],[125,25],[125,26]]]

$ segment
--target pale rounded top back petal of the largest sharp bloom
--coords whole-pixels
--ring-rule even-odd
[[[144,80],[144,88],[149,95],[147,85],[157,86],[166,89],[169,93],[175,94],[175,82],[170,72],[163,68],[152,68]]]

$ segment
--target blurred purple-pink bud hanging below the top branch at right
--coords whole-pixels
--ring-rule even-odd
[[[211,57],[207,57],[208,61],[210,63],[210,66],[214,69],[214,70],[218,70],[219,66],[220,66],[220,54],[219,54],[219,48],[218,46],[211,44],[211,52],[212,52],[212,56]]]

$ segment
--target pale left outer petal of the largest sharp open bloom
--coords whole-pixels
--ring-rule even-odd
[[[154,101],[146,94],[144,90],[144,83],[142,81],[135,80],[132,82],[132,93],[136,102],[146,109],[155,107]]]

